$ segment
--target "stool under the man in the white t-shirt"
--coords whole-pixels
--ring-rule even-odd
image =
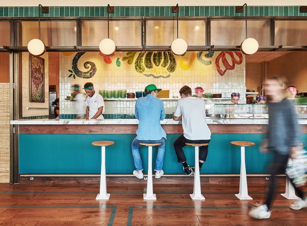
[[[205,200],[205,197],[201,194],[200,190],[200,173],[199,173],[199,147],[208,146],[208,143],[204,144],[191,144],[185,143],[186,145],[195,147],[195,175],[194,175],[194,186],[193,186],[193,194],[190,194],[190,197],[193,200]]]

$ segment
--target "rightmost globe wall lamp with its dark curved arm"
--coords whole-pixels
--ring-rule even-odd
[[[245,55],[251,55],[257,52],[259,48],[259,44],[254,38],[247,38],[247,4],[245,3],[243,6],[237,6],[237,13],[243,13],[243,7],[245,6],[245,40],[241,43],[241,51]]]

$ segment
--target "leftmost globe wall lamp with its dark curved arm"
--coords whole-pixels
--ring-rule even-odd
[[[49,13],[49,7],[45,6],[43,7],[41,4],[38,5],[38,39],[32,39],[28,43],[28,50],[29,52],[34,56],[41,56],[46,51],[46,46],[44,42],[41,41],[41,10],[40,6],[42,8],[42,13]]]

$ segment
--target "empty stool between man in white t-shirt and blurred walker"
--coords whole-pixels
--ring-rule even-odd
[[[247,191],[245,147],[254,146],[255,143],[248,141],[231,141],[230,144],[241,147],[240,187],[239,194],[235,194],[235,196],[240,200],[252,200],[253,198],[248,195]]]

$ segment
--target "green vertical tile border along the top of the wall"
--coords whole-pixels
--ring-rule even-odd
[[[111,17],[173,17],[171,6],[115,6],[115,13]],[[235,6],[180,6],[179,16],[244,16],[236,13]],[[245,10],[244,10],[245,11]],[[248,6],[249,16],[307,16],[301,13],[299,6]],[[0,17],[37,17],[38,7],[0,7]],[[105,17],[106,6],[75,7],[75,6],[50,6],[49,13],[42,17]]]

